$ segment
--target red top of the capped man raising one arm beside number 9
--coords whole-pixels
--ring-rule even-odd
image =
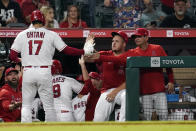
[[[85,121],[92,121],[94,118],[95,107],[97,101],[101,95],[101,92],[97,90],[93,85],[90,79],[85,81],[85,85],[80,92],[81,95],[87,95],[90,92],[85,111]]]

